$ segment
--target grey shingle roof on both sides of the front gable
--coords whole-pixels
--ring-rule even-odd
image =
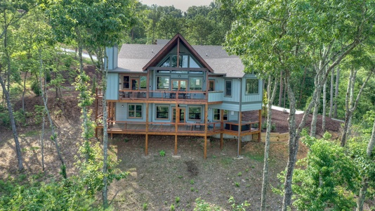
[[[117,72],[142,72],[142,68],[165,44],[123,44],[119,52]],[[238,56],[229,56],[223,46],[192,46],[215,74],[243,77],[244,65]]]

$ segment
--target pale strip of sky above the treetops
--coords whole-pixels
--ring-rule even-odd
[[[208,6],[213,0],[140,0],[142,4],[152,5],[156,4],[157,6],[174,6],[175,8],[180,9],[181,11],[187,11],[187,8],[190,6]]]

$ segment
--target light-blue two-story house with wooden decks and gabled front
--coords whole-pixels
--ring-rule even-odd
[[[150,135],[175,136],[175,154],[178,136],[202,136],[204,158],[208,136],[220,138],[221,148],[225,137],[239,146],[253,134],[260,139],[262,80],[222,46],[190,46],[176,34],[166,44],[123,44],[118,55],[110,48],[107,56],[107,132],[144,134],[146,155]],[[102,97],[98,91],[97,117]],[[257,115],[243,121],[250,110]]]

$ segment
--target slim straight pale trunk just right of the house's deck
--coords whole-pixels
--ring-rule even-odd
[[[280,73],[282,75],[282,73]],[[263,183],[262,183],[262,196],[261,196],[261,211],[266,210],[265,208],[265,196],[268,186],[268,152],[270,151],[270,132],[271,132],[271,117],[272,117],[272,102],[276,96],[277,78],[273,83],[273,89],[271,90],[272,77],[268,77],[267,86],[267,131],[265,134],[265,147],[264,147],[264,165],[263,165]],[[272,96],[271,96],[272,95]],[[280,102],[280,101],[279,101]],[[261,124],[261,122],[259,122]]]

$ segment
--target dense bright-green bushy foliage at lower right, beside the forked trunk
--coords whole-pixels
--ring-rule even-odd
[[[353,210],[358,167],[346,155],[344,148],[323,139],[305,136],[303,143],[310,148],[307,158],[299,160],[301,169],[294,170],[294,205],[298,210]],[[284,179],[284,177],[280,177]]]

